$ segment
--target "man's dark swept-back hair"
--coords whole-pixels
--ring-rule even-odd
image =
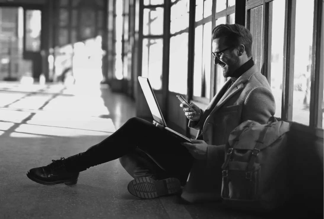
[[[212,39],[225,37],[226,46],[244,45],[248,57],[252,56],[252,34],[250,31],[239,24],[220,24],[214,27]]]

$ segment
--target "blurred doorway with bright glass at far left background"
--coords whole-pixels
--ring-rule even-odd
[[[41,71],[41,7],[0,6],[0,80],[37,80]]]

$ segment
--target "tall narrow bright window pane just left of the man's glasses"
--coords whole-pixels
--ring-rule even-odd
[[[203,27],[203,69],[205,71],[205,97],[210,97],[210,71],[212,62],[212,22]]]

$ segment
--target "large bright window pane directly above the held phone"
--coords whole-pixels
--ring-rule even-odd
[[[170,38],[169,91],[187,94],[188,33]]]

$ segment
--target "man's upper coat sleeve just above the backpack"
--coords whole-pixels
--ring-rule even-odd
[[[274,115],[275,109],[272,92],[265,87],[256,87],[244,101],[241,122],[252,120],[265,124]]]

